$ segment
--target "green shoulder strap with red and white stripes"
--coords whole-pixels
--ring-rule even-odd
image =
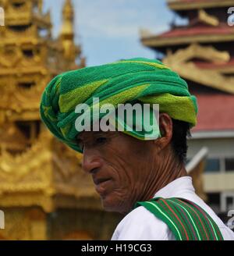
[[[140,205],[165,222],[176,240],[223,240],[215,221],[192,201],[155,197],[150,201],[137,202],[134,208]]]

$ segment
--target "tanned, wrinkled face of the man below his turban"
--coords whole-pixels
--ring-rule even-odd
[[[129,212],[144,199],[154,175],[152,140],[119,132],[83,132],[78,144],[83,148],[83,170],[92,175],[106,211]]]

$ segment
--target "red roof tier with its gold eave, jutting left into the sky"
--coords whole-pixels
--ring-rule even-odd
[[[147,47],[165,48],[168,46],[234,41],[234,27],[220,23],[217,27],[200,24],[194,27],[175,27],[158,35],[141,37],[142,43]]]

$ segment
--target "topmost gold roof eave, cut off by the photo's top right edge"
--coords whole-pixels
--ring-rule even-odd
[[[233,6],[233,0],[168,0],[168,7],[175,11],[229,6]]]

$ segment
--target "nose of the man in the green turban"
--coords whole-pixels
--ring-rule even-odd
[[[95,169],[100,168],[102,165],[100,156],[92,150],[83,151],[82,168],[84,172],[93,172]]]

